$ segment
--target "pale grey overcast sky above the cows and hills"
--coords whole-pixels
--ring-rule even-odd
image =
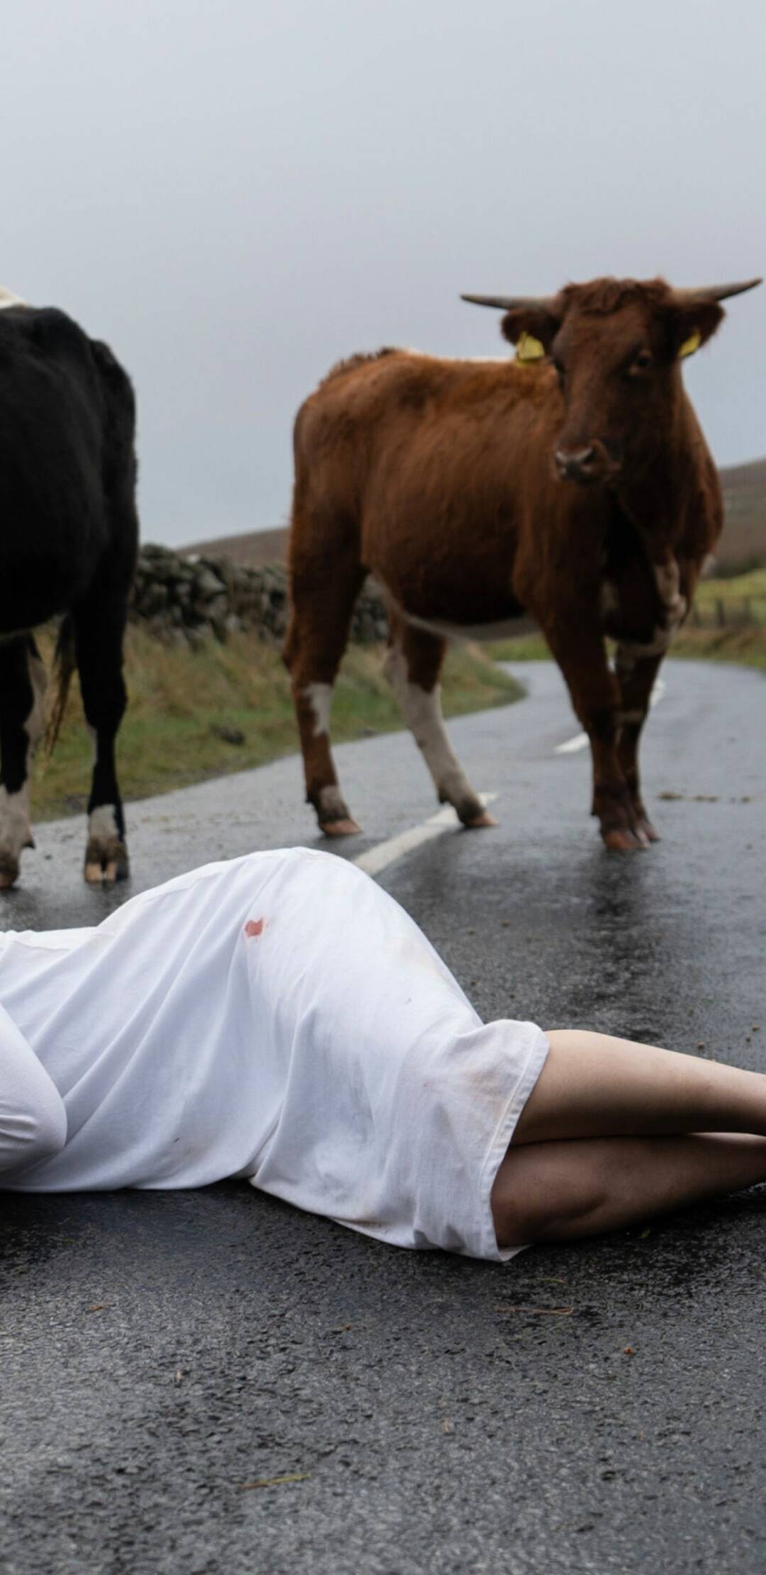
[[[766,271],[761,0],[25,0],[0,282],[110,342],[143,537],[282,523],[296,406],[381,343],[501,353],[462,290]],[[687,369],[766,452],[766,287]]]

